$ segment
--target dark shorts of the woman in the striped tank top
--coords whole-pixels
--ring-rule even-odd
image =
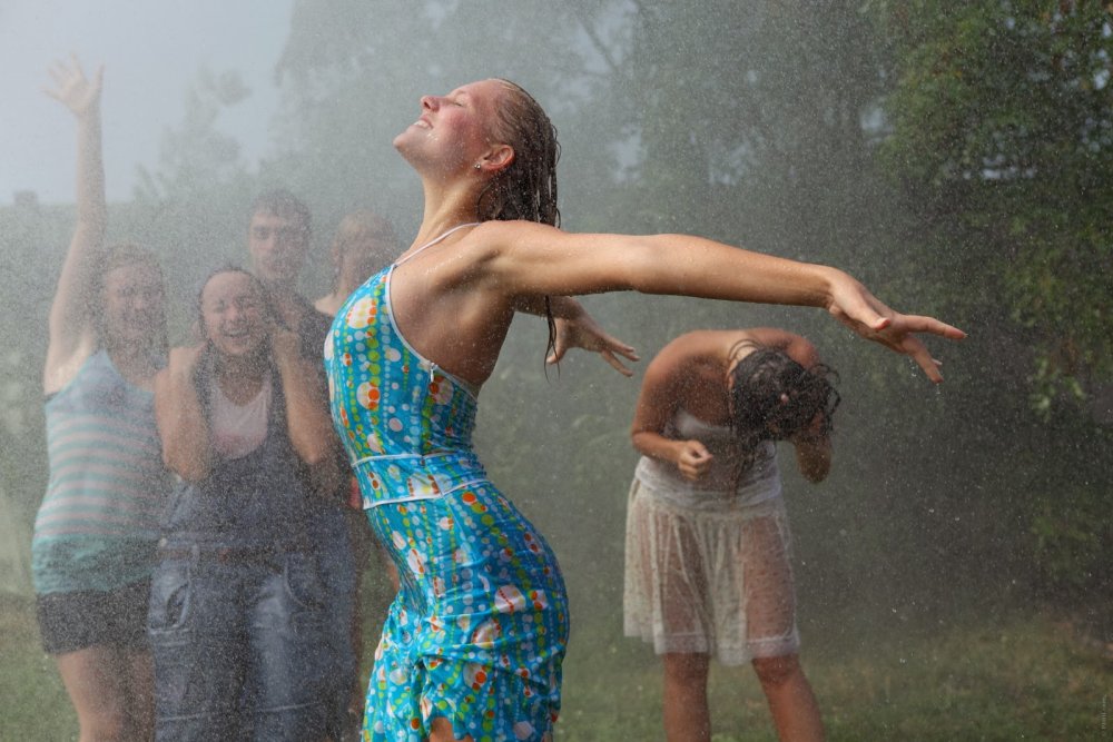
[[[42,647],[66,654],[90,646],[147,649],[147,598],[150,581],[112,591],[46,593],[35,598]]]

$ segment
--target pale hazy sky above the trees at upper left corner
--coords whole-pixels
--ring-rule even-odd
[[[181,122],[204,66],[238,71],[252,97],[219,128],[254,161],[277,105],[272,69],[293,0],[0,0],[0,205],[17,190],[73,200],[75,127],[42,92],[52,60],[105,63],[105,170],[110,200],[128,200],[136,168],[154,167],[164,130]]]

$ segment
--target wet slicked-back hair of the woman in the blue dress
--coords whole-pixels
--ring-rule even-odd
[[[514,150],[513,161],[480,192],[481,220],[524,219],[560,226],[556,208],[556,128],[533,97],[509,80],[498,80],[499,98],[491,136]]]

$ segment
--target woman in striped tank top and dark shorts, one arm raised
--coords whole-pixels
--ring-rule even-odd
[[[154,726],[146,619],[168,489],[152,383],[166,357],[162,273],[105,245],[100,91],[76,59],[47,92],[78,123],[77,227],[50,308],[42,374],[50,477],[31,542],[37,615],[80,739],[145,740]]]

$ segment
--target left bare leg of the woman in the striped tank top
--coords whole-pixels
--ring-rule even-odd
[[[90,646],[60,654],[56,661],[77,710],[80,742],[130,742],[126,710],[128,669],[121,664],[119,650]]]

